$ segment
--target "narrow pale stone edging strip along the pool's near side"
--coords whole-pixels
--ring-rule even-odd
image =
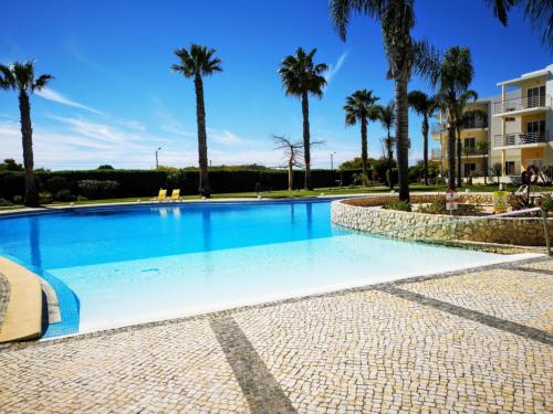
[[[310,299],[314,299],[314,298],[336,297],[336,296],[347,295],[351,293],[362,293],[362,291],[369,291],[369,290],[382,291],[383,288],[385,288],[386,286],[389,286],[389,285],[400,286],[404,284],[414,284],[414,283],[426,282],[426,280],[445,279],[445,278],[449,278],[449,277],[470,275],[473,273],[478,273],[478,272],[482,272],[482,270],[491,270],[491,269],[517,269],[517,267],[519,267],[521,265],[540,263],[540,262],[545,262],[545,261],[550,261],[550,259],[552,259],[552,258],[546,257],[546,256],[522,258],[520,261],[497,263],[497,264],[470,267],[470,268],[465,268],[465,269],[459,269],[459,270],[451,270],[451,272],[436,273],[436,274],[430,274],[430,275],[407,277],[407,278],[398,279],[398,280],[394,280],[394,282],[384,282],[384,283],[365,285],[365,286],[346,288],[346,289],[340,289],[340,290],[334,290],[334,291],[286,298],[286,299],[281,299],[281,300],[268,301],[264,304],[247,305],[247,306],[219,310],[219,311],[215,311],[215,312],[207,312],[207,314],[187,316],[187,317],[181,317],[181,318],[164,319],[164,320],[132,325],[132,326],[126,326],[126,327],[121,327],[121,328],[105,329],[105,330],[100,330],[100,331],[88,332],[88,333],[71,335],[67,337],[50,339],[46,341],[25,341],[25,342],[4,343],[4,344],[0,344],[0,351],[20,350],[20,349],[24,349],[24,348],[34,348],[34,347],[48,347],[48,346],[53,346],[53,344],[62,343],[62,342],[71,342],[71,341],[85,340],[88,338],[112,336],[112,335],[117,335],[117,333],[127,332],[127,331],[137,331],[137,330],[142,330],[142,329],[157,327],[157,326],[166,326],[166,325],[174,325],[174,323],[176,325],[176,323],[181,323],[181,322],[189,321],[189,320],[206,320],[206,319],[212,319],[212,318],[223,318],[223,317],[232,316],[232,315],[240,314],[240,312],[248,311],[248,310],[263,309],[263,308],[269,308],[269,307],[279,306],[279,305],[283,305],[283,304],[293,304],[293,302],[310,300]],[[462,308],[462,309],[465,309],[465,308]]]

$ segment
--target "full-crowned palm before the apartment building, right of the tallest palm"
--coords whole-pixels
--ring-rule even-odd
[[[448,188],[456,189],[456,136],[460,136],[463,109],[470,98],[477,94],[469,89],[474,70],[468,47],[453,46],[446,51],[441,57],[428,57],[425,71],[420,73],[430,79],[437,87],[437,99],[448,123]],[[457,145],[458,161],[461,157],[460,138]],[[460,162],[458,164],[458,179],[460,184]]]

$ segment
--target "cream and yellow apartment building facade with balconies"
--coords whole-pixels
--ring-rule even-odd
[[[478,99],[466,109],[488,116],[462,126],[462,177],[483,176],[487,169],[493,176],[490,170],[499,167],[503,177],[520,176],[530,166],[541,171],[553,167],[553,64],[498,86],[501,95]],[[437,118],[431,132],[440,147],[431,155],[446,171],[447,123],[441,115]]]

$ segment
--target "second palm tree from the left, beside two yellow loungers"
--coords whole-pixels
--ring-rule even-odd
[[[171,66],[174,72],[179,72],[185,77],[194,78],[194,86],[196,89],[196,121],[198,124],[198,158],[200,167],[199,193],[207,198],[211,195],[211,189],[209,187],[208,176],[204,77],[210,76],[215,72],[222,72],[222,61],[213,56],[215,52],[215,49],[191,44],[189,50],[182,47],[175,51],[180,62]]]

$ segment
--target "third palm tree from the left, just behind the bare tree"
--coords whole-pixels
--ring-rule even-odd
[[[310,137],[310,103],[309,95],[319,98],[323,96],[326,79],[323,73],[328,70],[324,63],[315,64],[313,57],[316,49],[306,53],[302,47],[295,50],[294,55],[284,57],[279,74],[286,96],[296,96],[302,99],[303,114],[303,157],[305,161],[305,189],[312,190],[311,184],[311,137]]]

